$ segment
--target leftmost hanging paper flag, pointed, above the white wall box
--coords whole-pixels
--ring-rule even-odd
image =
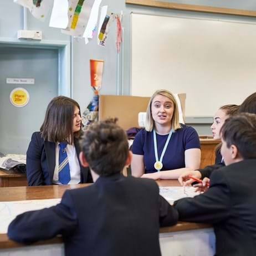
[[[13,2],[28,8],[30,13],[40,21],[44,21],[52,6],[52,0],[14,0]]]

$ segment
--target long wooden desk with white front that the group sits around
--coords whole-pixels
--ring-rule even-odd
[[[177,181],[157,181],[158,186],[179,186]],[[50,199],[50,198],[60,198],[62,197],[63,193],[65,190],[71,189],[71,188],[79,188],[79,187],[85,187],[85,186],[90,186],[90,184],[79,184],[79,185],[62,185],[62,186],[35,186],[35,187],[2,187],[0,188],[0,201],[2,202],[8,202],[8,201],[22,201],[22,200],[32,200],[32,199]],[[203,231],[202,231],[203,230]],[[211,226],[208,224],[198,224],[198,223],[188,223],[188,222],[178,222],[176,226],[172,227],[165,227],[160,229],[160,243],[161,239],[163,240],[162,243],[165,244],[165,248],[161,247],[162,250],[162,255],[168,255],[167,253],[163,253],[166,250],[166,239],[170,237],[170,232],[171,232],[171,237],[175,234],[182,234],[186,235],[188,232],[190,232],[190,236],[196,237],[193,232],[198,231],[199,234],[202,235],[202,232],[206,233],[207,239],[208,237],[213,235],[213,231],[211,229]],[[191,233],[192,232],[192,233]],[[161,238],[161,235],[163,236]],[[182,241],[185,238],[182,238]],[[206,239],[206,240],[207,240]],[[167,239],[167,242],[173,242],[172,240]],[[16,242],[13,242],[12,240],[9,240],[7,237],[7,234],[0,234],[0,254],[6,252],[6,255],[9,255],[9,250],[11,249],[13,252],[17,250],[22,250],[22,254],[17,254],[17,255],[33,255],[35,252],[35,248],[37,247],[42,247],[42,246],[48,246],[49,244],[53,246],[53,248],[58,248],[59,249],[59,255],[63,254],[63,241],[61,237],[56,237],[50,240],[46,241],[41,241],[38,243],[33,244],[33,246],[25,246]],[[183,242],[182,242],[183,243]],[[208,240],[207,242],[204,241],[204,247],[208,249]],[[54,244],[59,244],[54,245]],[[55,247],[54,247],[55,246]],[[17,249],[14,249],[17,248]],[[33,253],[29,254],[29,250],[32,250],[33,248]],[[62,249],[61,249],[62,248]],[[180,248],[180,247],[178,247]],[[168,250],[170,249],[170,246],[168,245]],[[209,248],[212,252],[212,248]],[[28,252],[25,254],[24,250],[28,250]],[[173,248],[171,248],[173,252]],[[4,255],[4,254],[3,254]],[[37,254],[38,255],[38,254]],[[44,255],[40,254],[39,255]],[[172,255],[175,255],[172,253]],[[178,255],[178,254],[177,254]],[[187,254],[187,255],[193,255],[193,254]],[[196,255],[196,254],[194,254]],[[206,255],[212,255],[212,254],[204,254]]]

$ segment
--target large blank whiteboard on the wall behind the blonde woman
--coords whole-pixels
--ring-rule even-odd
[[[131,14],[131,95],[186,93],[188,116],[212,116],[256,91],[256,23]]]

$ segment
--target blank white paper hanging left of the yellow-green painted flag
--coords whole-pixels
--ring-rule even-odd
[[[54,28],[66,28],[69,22],[68,8],[68,0],[54,0],[49,26]]]

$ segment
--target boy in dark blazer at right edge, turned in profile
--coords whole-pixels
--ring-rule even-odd
[[[256,255],[256,115],[229,117],[221,136],[227,166],[212,173],[206,192],[174,205],[181,221],[213,224],[216,256]]]

